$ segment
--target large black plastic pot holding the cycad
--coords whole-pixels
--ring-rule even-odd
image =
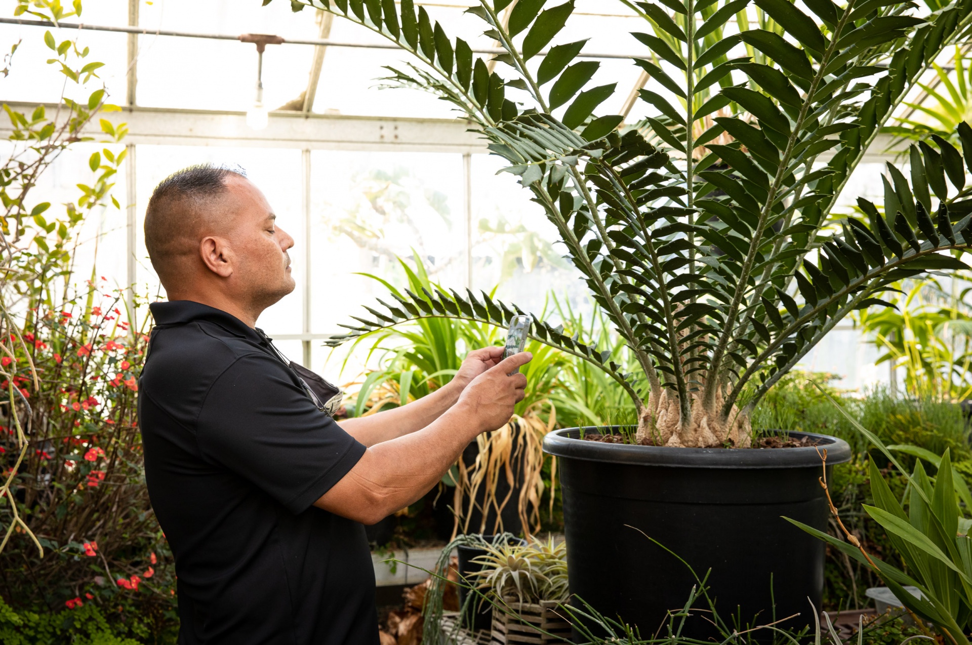
[[[780,627],[814,624],[808,598],[819,611],[824,543],[782,517],[826,530],[816,448],[631,446],[584,441],[579,433],[557,430],[543,441],[559,458],[571,594],[650,636],[697,584],[680,558],[700,578],[712,569],[710,596],[730,628],[792,614],[800,616]],[[842,439],[789,434],[826,448],[828,473],[851,458]],[[695,612],[683,635],[714,635],[707,615]]]

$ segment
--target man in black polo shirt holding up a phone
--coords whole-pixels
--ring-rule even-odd
[[[294,240],[274,219],[241,173],[212,166],[163,181],[146,212],[168,302],[152,305],[139,422],[176,560],[179,643],[372,645],[363,524],[422,497],[506,423],[531,356],[477,350],[433,394],[334,423],[256,328],[295,286]]]

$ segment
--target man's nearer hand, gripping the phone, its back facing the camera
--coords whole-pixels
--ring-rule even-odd
[[[500,350],[499,356],[503,356],[503,348],[495,349]],[[533,357],[529,352],[520,352],[494,363],[472,379],[466,390],[463,390],[456,407],[469,412],[479,425],[480,432],[495,430],[513,416],[513,406],[523,400],[527,387],[527,377],[516,370],[530,362]]]

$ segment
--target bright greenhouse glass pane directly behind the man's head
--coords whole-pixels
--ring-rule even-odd
[[[301,211],[300,151],[278,149],[204,148],[194,146],[139,146],[137,148],[138,185],[138,261],[139,282],[158,284],[145,250],[142,231],[145,208],[156,185],[171,173],[195,163],[217,163],[242,167],[249,179],[263,191],[274,209],[278,225],[294,237],[291,255],[294,292],[263,312],[258,324],[269,335],[302,331],[303,214]],[[155,289],[151,289],[154,292]]]

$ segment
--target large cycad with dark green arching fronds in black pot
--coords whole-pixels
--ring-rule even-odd
[[[393,79],[450,101],[509,162],[638,369],[544,322],[533,338],[608,372],[638,409],[640,442],[746,447],[753,405],[838,321],[902,276],[964,266],[942,254],[967,246],[968,219],[961,155],[941,139],[911,150],[911,186],[889,170],[885,215],[862,202],[861,219],[821,226],[892,110],[965,33],[972,0],[620,1],[644,21],[635,63],[658,113],[646,133],[595,115],[614,84],[585,89],[599,63],[583,58],[586,41],[557,41],[573,0],[469,9],[502,48],[497,71],[412,0],[292,6],[414,54]],[[333,342],[404,319],[504,324],[517,311],[471,292],[396,300]]]

